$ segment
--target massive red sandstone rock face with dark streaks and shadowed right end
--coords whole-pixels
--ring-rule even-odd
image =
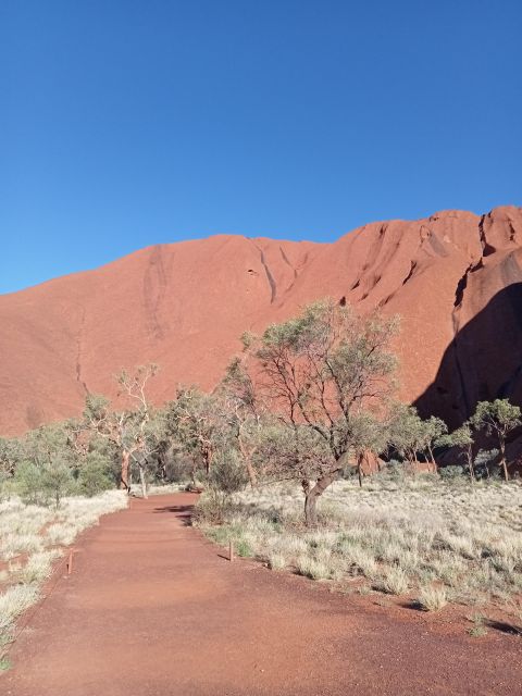
[[[402,316],[401,396],[461,422],[478,399],[522,399],[522,209],[373,223],[332,245],[219,235],[0,296],[0,435],[115,396],[153,361],[152,397],[212,387],[245,330],[325,296]]]

